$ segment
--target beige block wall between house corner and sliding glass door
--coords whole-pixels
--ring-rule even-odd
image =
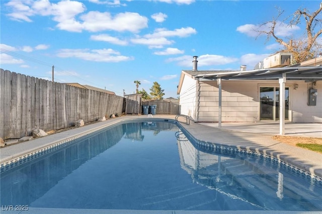
[[[257,122],[258,82],[221,81],[221,121]],[[200,82],[198,122],[218,122],[219,92],[216,81]]]

